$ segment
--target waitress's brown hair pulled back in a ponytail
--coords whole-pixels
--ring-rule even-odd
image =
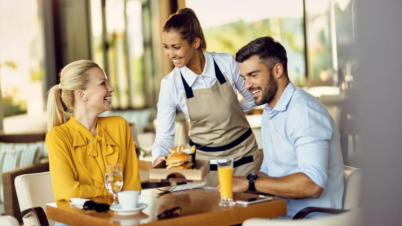
[[[207,49],[204,33],[197,15],[191,8],[181,8],[172,14],[162,27],[162,32],[177,31],[181,38],[193,43],[196,37],[201,39],[200,49]]]

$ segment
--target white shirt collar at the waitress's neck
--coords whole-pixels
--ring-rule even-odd
[[[201,75],[207,76],[209,78],[216,78],[212,54],[207,51],[202,51],[202,53],[205,56],[205,66],[204,71]],[[189,86],[192,86],[198,75],[190,70],[190,68],[187,68],[187,66],[179,68],[179,70],[183,74],[184,80],[186,80],[187,84],[189,84]]]

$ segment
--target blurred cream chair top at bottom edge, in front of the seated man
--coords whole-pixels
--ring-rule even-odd
[[[361,225],[361,210],[352,210],[334,216],[305,219],[305,220],[279,220],[253,218],[243,222],[242,226],[359,226]]]

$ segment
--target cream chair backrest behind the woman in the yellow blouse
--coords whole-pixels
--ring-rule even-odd
[[[21,175],[14,183],[21,211],[37,206],[46,211],[46,203],[55,202],[49,172]],[[24,224],[39,225],[33,214],[23,221]],[[49,220],[49,225],[53,226],[54,222]]]

